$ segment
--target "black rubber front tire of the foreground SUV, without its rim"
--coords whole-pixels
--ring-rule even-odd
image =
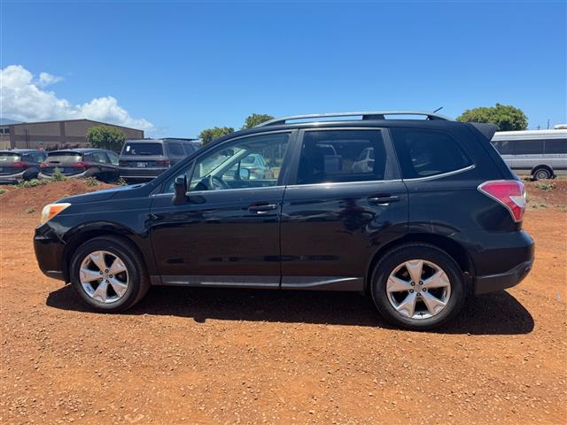
[[[128,271],[128,289],[120,299],[106,304],[91,298],[83,289],[80,280],[79,270],[82,260],[91,252],[107,251],[122,260]],[[136,246],[127,239],[118,236],[99,236],[82,243],[71,258],[70,280],[74,291],[89,307],[105,313],[115,313],[127,310],[132,305],[144,298],[150,289],[150,279],[148,277],[144,260],[136,250]],[[111,276],[112,277],[112,276]]]

